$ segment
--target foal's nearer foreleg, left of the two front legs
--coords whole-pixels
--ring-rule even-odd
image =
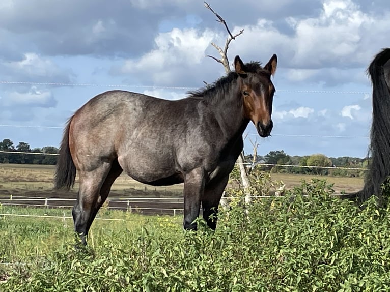
[[[184,222],[186,230],[197,230],[197,223],[193,223],[199,217],[201,197],[205,188],[205,173],[202,168],[193,169],[184,177]]]

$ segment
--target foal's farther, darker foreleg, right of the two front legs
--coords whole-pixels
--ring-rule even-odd
[[[217,226],[219,201],[228,184],[228,180],[229,176],[226,176],[219,180],[211,181],[205,186],[205,195],[202,199],[203,219],[206,220],[207,226],[213,230],[215,230]]]

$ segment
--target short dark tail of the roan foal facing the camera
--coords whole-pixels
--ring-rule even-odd
[[[57,161],[57,169],[54,176],[54,189],[59,190],[66,188],[69,190],[74,185],[76,179],[76,167],[74,166],[69,148],[69,128],[73,119],[70,118],[66,124],[64,134],[61,141],[59,158]]]

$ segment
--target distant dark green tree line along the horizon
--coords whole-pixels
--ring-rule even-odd
[[[19,142],[18,145],[15,145],[10,139],[4,139],[0,142],[0,151],[9,152],[0,153],[0,163],[55,165],[57,163],[57,156],[55,155],[19,154],[13,152],[58,154],[59,149],[53,146],[31,149],[30,145],[26,142]],[[368,159],[366,158],[348,156],[336,158],[327,157],[323,154],[290,156],[283,150],[271,151],[264,156],[253,156],[252,154],[246,155],[245,162],[249,165],[252,164],[252,167],[257,167],[261,170],[273,173],[317,174],[321,176],[330,175],[349,177],[364,176],[365,170],[363,168],[367,168],[368,166]],[[362,168],[362,170],[338,169],[337,167]]]

